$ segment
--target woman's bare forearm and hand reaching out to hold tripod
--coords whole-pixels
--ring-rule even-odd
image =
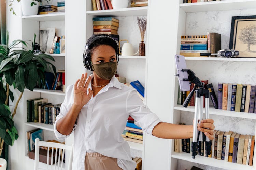
[[[204,132],[204,134],[209,138],[213,139],[213,133],[215,126],[213,125],[212,119],[202,120],[200,124],[197,125],[197,129]],[[209,129],[205,129],[209,128]],[[193,137],[193,126],[192,125],[179,125],[160,122],[158,123],[153,131],[152,135],[164,138],[164,139],[187,139]]]

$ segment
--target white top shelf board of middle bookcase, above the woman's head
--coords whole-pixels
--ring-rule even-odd
[[[125,16],[140,16],[147,15],[147,6],[122,8],[116,10],[95,10],[87,11],[86,14],[93,16],[114,16],[114,17],[125,17]]]

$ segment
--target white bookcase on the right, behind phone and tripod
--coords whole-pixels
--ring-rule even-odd
[[[231,26],[232,16],[246,16],[256,15],[255,0],[225,0],[225,1],[211,1],[211,2],[198,2],[198,3],[185,3],[180,0],[177,9],[177,28],[176,36],[176,54],[180,53],[180,38],[182,35],[206,35],[207,31],[217,32],[222,35],[222,49],[226,49],[229,44],[229,33]],[[237,11],[232,11],[237,10]],[[248,13],[248,14],[247,14]],[[226,15],[229,14],[229,15]],[[225,16],[226,15],[226,16]],[[230,16],[231,15],[231,16]],[[211,19],[209,19],[211,18]],[[212,19],[212,18],[217,18]],[[207,20],[209,19],[209,21]],[[226,25],[220,27],[218,22],[225,20]],[[185,57],[187,68],[195,72],[196,76],[201,80],[208,80],[208,83],[213,83],[215,94],[218,95],[217,85],[219,82],[223,83],[238,83],[238,84],[255,84],[250,70],[254,68],[256,58],[219,58],[219,57]],[[174,56],[173,56],[174,64]],[[176,73],[175,65],[173,65],[172,73]],[[232,68],[233,67],[233,68]],[[246,78],[248,77],[248,79]],[[178,96],[178,80],[173,78],[172,81],[172,94],[174,99],[171,106],[171,123],[184,122],[189,125],[193,121],[195,107],[188,106],[187,108],[182,105],[177,105]],[[212,104],[210,100],[210,105]],[[205,111],[204,111],[205,113]],[[215,109],[210,106],[210,118],[214,120],[216,130],[234,131],[240,134],[256,135],[255,127],[251,128],[247,124],[256,125],[256,115],[254,113],[226,111]],[[192,124],[192,123],[191,123]],[[233,125],[236,124],[237,127]],[[246,129],[247,131],[243,131]],[[256,147],[254,146],[256,149]],[[254,155],[256,154],[254,149]],[[224,160],[216,160],[214,158],[206,158],[197,155],[195,159],[191,158],[188,153],[174,152],[174,140],[171,140],[170,151],[170,164],[171,170],[179,168],[187,168],[188,164],[203,169],[255,169],[255,156],[253,158],[253,166],[240,165],[236,163],[225,162]],[[184,161],[178,161],[184,160]],[[187,162],[186,162],[187,161]],[[188,163],[190,162],[190,163]],[[200,167],[200,164],[204,165]],[[208,167],[211,166],[211,167]],[[191,167],[190,167],[191,168]]]

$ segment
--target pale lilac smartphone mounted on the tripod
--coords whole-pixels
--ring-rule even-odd
[[[184,81],[184,79],[188,79],[187,71],[182,71],[182,69],[186,69],[185,57],[182,55],[175,55],[175,63],[181,91],[190,91],[189,81]]]

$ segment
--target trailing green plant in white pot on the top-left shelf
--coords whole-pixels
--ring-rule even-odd
[[[12,11],[12,13],[14,15],[15,12],[13,10],[13,1],[15,0],[11,0],[10,2],[10,5],[11,6],[11,9],[10,11]],[[21,0],[17,0],[18,2],[20,2]],[[50,0],[45,0],[47,3],[49,3]],[[28,16],[28,15],[37,15],[38,13],[38,6],[39,6],[39,3],[36,3],[36,2],[42,2],[42,0],[22,0],[22,14],[23,16]]]

